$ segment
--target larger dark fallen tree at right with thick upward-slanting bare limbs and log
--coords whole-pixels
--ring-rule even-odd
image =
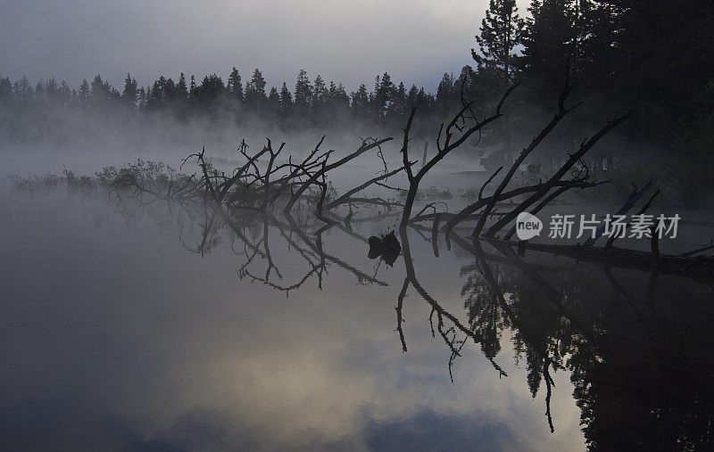
[[[702,278],[714,275],[714,259],[710,257],[703,257],[701,255],[694,257],[694,255],[698,253],[709,251],[712,248],[711,246],[705,246],[694,251],[685,252],[682,255],[662,254],[660,252],[660,237],[658,234],[655,234],[654,226],[652,226],[650,234],[648,235],[651,238],[651,250],[649,252],[615,248],[613,246],[613,242],[615,242],[617,235],[611,235],[604,246],[595,246],[595,243],[604,233],[603,226],[598,227],[594,236],[582,245],[547,245],[535,244],[531,242],[511,242],[511,237],[516,232],[515,220],[518,218],[520,213],[538,213],[551,204],[552,201],[556,200],[561,194],[570,190],[585,190],[597,185],[610,183],[609,180],[594,180],[590,175],[589,168],[585,164],[584,158],[588,152],[594,149],[595,145],[598,144],[602,138],[610,134],[610,132],[616,127],[619,127],[619,125],[627,121],[632,114],[631,110],[615,115],[613,119],[607,121],[607,123],[593,136],[585,138],[577,147],[576,151],[569,153],[568,159],[565,160],[560,168],[555,170],[552,176],[546,181],[539,181],[539,183],[535,185],[522,185],[509,188],[513,177],[517,174],[519,168],[524,164],[527,157],[535,152],[538,145],[543,143],[544,139],[552,132],[560,121],[571,111],[575,110],[579,105],[579,103],[571,106],[566,105],[566,101],[571,91],[568,78],[566,79],[565,86],[560,92],[558,110],[554,113],[553,118],[544,125],[541,131],[533,138],[531,143],[519,153],[518,158],[513,161],[511,167],[499,181],[493,193],[489,196],[484,196],[486,186],[494,182],[494,179],[501,173],[503,167],[498,168],[481,186],[481,189],[478,192],[477,201],[469,204],[459,212],[454,214],[437,211],[433,208],[432,204],[430,206],[434,210],[433,213],[423,215],[424,210],[421,210],[416,216],[411,217],[413,196],[419,189],[420,180],[427,174],[430,168],[433,168],[436,163],[444,159],[447,153],[452,152],[456,147],[458,147],[459,144],[463,143],[463,140],[466,137],[480,130],[480,128],[485,126],[488,122],[499,119],[502,116],[503,103],[513,88],[515,88],[515,86],[511,87],[511,89],[503,95],[501,101],[495,108],[494,114],[481,121],[477,120],[471,113],[470,104],[466,100],[462,100],[463,107],[461,111],[454,116],[452,121],[445,128],[444,125],[442,125],[440,129],[439,136],[436,139],[438,149],[436,156],[431,160],[428,160],[425,166],[416,174],[412,173],[411,167],[406,168],[406,173],[410,181],[409,193],[411,196],[408,195],[407,200],[405,201],[402,221],[400,223],[400,229],[402,231],[404,231],[409,225],[415,226],[418,222],[432,221],[431,240],[434,243],[435,253],[437,253],[436,234],[438,234],[439,231],[446,233],[448,241],[454,227],[459,226],[463,222],[475,220],[477,224],[474,227],[473,232],[470,234],[471,238],[485,239],[491,242],[501,242],[502,244],[517,247],[521,252],[525,252],[525,250],[546,251],[556,254],[569,255],[570,257],[580,260],[602,260],[606,261],[608,265],[613,267],[640,268],[646,271],[658,271],[673,275],[694,275],[694,277]],[[404,162],[408,161],[409,131],[411,127],[411,120],[413,119],[413,113],[414,112],[412,111],[410,120],[407,127],[405,127],[403,134],[403,146],[401,152],[403,153]],[[442,131],[445,131],[443,140]],[[454,138],[454,134],[459,134],[458,138]],[[614,214],[622,216],[626,214],[627,211],[633,209],[637,201],[639,201],[651,187],[652,181],[649,181],[639,188],[634,185],[632,193],[629,194],[622,207],[619,208],[619,210],[616,210]],[[643,204],[642,208],[638,210],[636,215],[642,216],[644,212],[652,206],[652,201],[654,201],[659,193],[660,191],[658,190],[652,194],[649,201],[646,201]],[[524,197],[525,199],[518,201],[521,197]],[[504,201],[509,203],[503,204],[502,202]],[[495,211],[495,207],[497,205],[501,206],[505,209],[505,211]],[[440,226],[440,221],[443,219],[445,219],[444,226]],[[489,220],[492,220],[490,224],[488,223]],[[500,235],[501,237],[499,237]]]

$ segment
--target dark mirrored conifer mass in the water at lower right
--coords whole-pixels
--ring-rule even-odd
[[[488,255],[480,242],[454,242],[475,256],[461,268],[469,325],[488,332],[482,349],[492,354],[502,332],[513,329],[534,397],[545,385],[551,430],[550,373],[566,370],[591,448],[707,448],[714,413],[710,291],[672,277],[655,293],[643,272],[626,275],[626,291],[608,267],[536,267],[502,244],[484,243],[499,253]],[[638,286],[646,293],[640,299],[629,294]]]

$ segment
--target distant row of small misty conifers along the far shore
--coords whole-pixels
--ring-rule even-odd
[[[250,78],[244,78],[233,68],[224,80],[211,74],[196,80],[179,74],[178,81],[161,76],[149,86],[139,86],[137,79],[127,74],[123,87],[111,86],[101,75],[92,81],[82,80],[77,88],[71,88],[55,78],[30,83],[27,77],[12,81],[0,78],[0,103],[10,106],[42,106],[53,104],[66,108],[89,111],[123,110],[139,114],[165,111],[179,118],[191,115],[234,114],[262,116],[269,119],[301,119],[321,122],[338,117],[373,119],[377,122],[402,120],[411,105],[419,104],[425,110],[443,103],[444,94],[455,89],[456,80],[444,75],[437,96],[423,87],[407,88],[403,83],[395,85],[388,73],[375,78],[373,88],[361,85],[347,93],[342,83],[326,82],[320,75],[311,79],[307,71],[300,70],[295,86],[286,82],[278,88],[268,85],[262,71],[253,70]]]

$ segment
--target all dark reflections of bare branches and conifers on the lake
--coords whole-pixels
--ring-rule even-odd
[[[131,222],[145,207],[122,204],[115,211]],[[352,274],[357,284],[386,285],[378,278],[379,265],[368,273],[326,251],[322,234],[327,228],[314,221],[270,213],[219,218],[211,210],[186,206],[174,207],[171,214],[180,218],[181,241],[188,251],[206,255],[228,235],[231,249],[243,259],[238,277],[286,294],[310,281],[321,289],[331,267]],[[183,238],[187,222],[200,228],[195,245]],[[336,223],[331,229],[363,242],[359,250],[367,253],[368,239],[349,224]],[[567,372],[589,448],[709,448],[714,427],[712,281],[642,269],[615,273],[607,265],[537,251],[524,257],[509,244],[466,240],[452,231],[449,241],[471,256],[454,269],[463,280],[465,312],[452,312],[421,283],[411,253],[414,236],[399,234],[405,275],[395,310],[404,352],[409,348],[402,312],[413,290],[430,307],[431,333],[444,342],[452,381],[454,363],[469,343],[477,344],[494,371],[507,377],[498,362],[505,358],[502,341],[510,340],[514,358],[525,363],[532,396],[545,391],[544,423],[550,431],[558,425],[550,403],[557,390],[552,374]],[[423,238],[424,246],[436,248]],[[303,275],[286,281],[288,275],[270,254],[270,241],[275,240],[285,241],[303,259]]]

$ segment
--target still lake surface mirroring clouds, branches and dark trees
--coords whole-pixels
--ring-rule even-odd
[[[0,449],[707,447],[711,281],[443,236],[436,257],[411,229],[428,297],[400,313],[403,259],[362,241],[396,223],[204,237],[177,206],[3,187]]]

